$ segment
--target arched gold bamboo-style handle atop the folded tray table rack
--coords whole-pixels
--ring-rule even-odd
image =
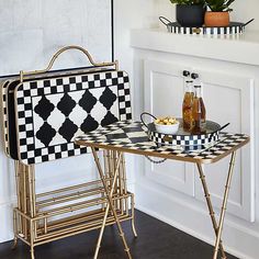
[[[34,70],[34,71],[23,71],[23,70],[20,71],[20,80],[21,80],[21,82],[23,82],[24,76],[33,76],[33,75],[44,74],[44,72],[49,71],[49,70],[52,69],[52,67],[53,67],[53,64],[54,64],[55,60],[58,58],[58,56],[59,56],[60,54],[63,54],[64,52],[70,50],[70,49],[78,49],[78,50],[82,52],[82,53],[88,57],[88,60],[91,63],[91,65],[93,65],[94,67],[114,66],[115,69],[117,70],[117,66],[119,66],[117,60],[112,61],[112,63],[95,63],[95,61],[93,61],[92,56],[90,55],[90,53],[89,53],[87,49],[85,49],[85,48],[82,48],[82,47],[80,47],[80,46],[71,45],[71,46],[63,47],[63,48],[60,48],[58,52],[56,52],[56,53],[53,55],[53,57],[52,57],[52,59],[50,59],[48,66],[47,66],[45,69],[42,69],[42,70]]]

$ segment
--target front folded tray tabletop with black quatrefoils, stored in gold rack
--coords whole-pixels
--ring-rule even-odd
[[[106,71],[24,82],[16,90],[19,157],[37,164],[87,153],[74,138],[132,119],[128,76]]]

